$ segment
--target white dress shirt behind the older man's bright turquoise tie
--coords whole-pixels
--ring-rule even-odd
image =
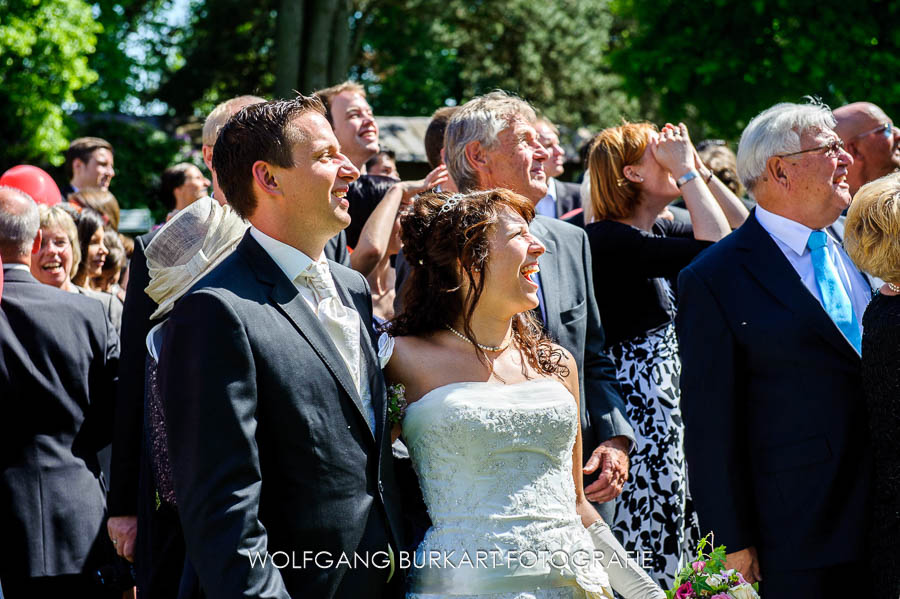
[[[812,257],[809,254],[809,248],[806,242],[809,240],[809,234],[813,232],[806,225],[802,225],[796,221],[790,220],[773,212],[769,212],[762,206],[756,206],[756,220],[762,225],[769,236],[775,241],[775,244],[784,254],[791,266],[800,276],[803,285],[810,293],[822,303],[822,294],[819,292],[819,286],[816,284],[816,273],[813,269]],[[850,297],[850,303],[853,305],[853,313],[859,324],[860,335],[862,334],[862,315],[872,299],[872,290],[866,282],[865,277],[860,274],[853,261],[841,247],[841,244],[835,240],[826,230],[825,237],[828,240],[825,246],[825,255],[831,261],[835,271],[841,279],[844,291]]]

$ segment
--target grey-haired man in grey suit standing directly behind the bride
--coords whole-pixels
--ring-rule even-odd
[[[494,133],[492,123],[507,127]],[[534,129],[534,110],[504,92],[477,97],[460,108],[447,126],[444,158],[462,192],[502,187],[537,203],[547,193],[542,163],[547,151]],[[634,439],[615,368],[603,351],[587,236],[562,221],[537,216],[531,231],[547,247],[538,259],[539,317],[552,337],[572,352],[578,364],[585,494],[601,504],[601,516],[612,520],[614,504],[628,476],[628,451]],[[401,272],[397,289],[402,295]]]

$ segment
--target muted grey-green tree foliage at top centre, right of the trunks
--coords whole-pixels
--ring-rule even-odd
[[[427,115],[495,88],[570,127],[636,110],[605,61],[605,0],[407,0],[369,19],[360,76],[376,112]]]

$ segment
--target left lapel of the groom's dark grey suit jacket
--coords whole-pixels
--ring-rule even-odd
[[[272,304],[287,318],[294,328],[297,329],[306,340],[310,347],[319,356],[319,359],[325,364],[331,374],[337,379],[341,387],[344,388],[353,405],[356,406],[360,418],[365,423],[366,431],[369,429],[368,420],[365,417],[365,409],[356,386],[353,384],[353,378],[341,354],[338,353],[334,342],[328,333],[322,328],[319,319],[306,304],[306,300],[294,287],[294,284],[288,280],[275,261],[266,253],[264,249],[256,242],[249,232],[244,236],[244,240],[238,248],[243,250],[250,262],[251,268],[255,271],[257,278],[267,285],[271,286],[269,290],[269,299]],[[362,331],[360,332],[362,335]]]

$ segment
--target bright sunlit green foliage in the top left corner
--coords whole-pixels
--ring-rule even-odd
[[[83,0],[0,0],[0,165],[62,161],[64,105],[94,82],[99,25]]]

